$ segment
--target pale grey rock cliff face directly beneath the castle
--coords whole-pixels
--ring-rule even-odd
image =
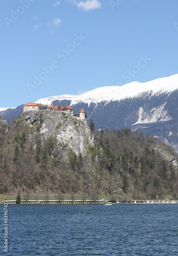
[[[21,115],[29,126],[39,125],[41,137],[50,136],[58,140],[60,152],[74,151],[76,155],[87,154],[87,146],[94,146],[94,136],[90,126],[74,116],[61,111],[32,111]]]

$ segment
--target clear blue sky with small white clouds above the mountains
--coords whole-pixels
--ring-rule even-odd
[[[178,1],[0,3],[0,107],[177,74]]]

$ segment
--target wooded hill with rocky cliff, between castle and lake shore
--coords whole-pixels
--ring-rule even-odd
[[[177,197],[177,156],[129,129],[94,132],[62,113],[29,112],[0,124],[0,193]]]

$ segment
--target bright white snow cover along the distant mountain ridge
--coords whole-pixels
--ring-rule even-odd
[[[149,92],[152,94],[169,93],[178,89],[178,74],[170,77],[158,78],[149,82],[130,82],[123,86],[106,86],[94,89],[81,95],[60,95],[43,98],[35,101],[50,105],[54,100],[71,100],[71,105],[78,102],[99,103],[101,101],[121,100],[139,96],[141,93]]]

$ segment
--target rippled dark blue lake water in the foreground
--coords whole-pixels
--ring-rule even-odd
[[[1,255],[178,255],[176,205],[8,205]]]

